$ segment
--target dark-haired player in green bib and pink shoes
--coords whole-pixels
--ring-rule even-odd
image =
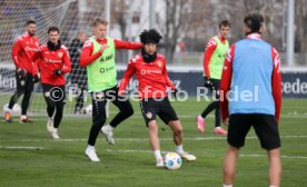
[[[211,38],[206,47],[204,55],[205,87],[215,96],[215,101],[209,104],[201,115],[196,117],[197,128],[200,132],[205,131],[205,118],[215,110],[215,134],[226,135],[227,131],[220,127],[220,107],[219,107],[219,82],[221,78],[221,68],[226,52],[229,48],[227,40],[230,30],[230,23],[224,20],[219,23],[219,35]]]

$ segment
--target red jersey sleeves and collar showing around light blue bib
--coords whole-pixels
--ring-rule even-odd
[[[259,35],[250,35],[247,39],[259,39]],[[227,94],[230,90],[231,79],[232,79],[232,61],[236,51],[236,45],[232,45],[225,58],[224,61],[224,69],[222,76],[220,81],[220,111],[221,118],[226,119],[229,117],[229,101],[227,98]],[[278,52],[275,48],[271,47],[271,59],[274,62],[273,73],[271,73],[271,95],[275,101],[275,118],[277,124],[279,122],[280,118],[280,110],[281,110],[281,75],[280,75],[280,59]]]

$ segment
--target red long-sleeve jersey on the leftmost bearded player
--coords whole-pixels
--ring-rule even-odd
[[[12,59],[16,69],[24,69],[32,76],[37,75],[37,62],[32,60],[32,57],[39,52],[39,39],[34,36],[24,33],[20,36],[12,47]]]

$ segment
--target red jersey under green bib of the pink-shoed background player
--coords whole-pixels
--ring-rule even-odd
[[[221,43],[226,42],[226,39],[222,38],[221,36],[218,36],[218,39],[221,41]],[[210,77],[209,62],[216,48],[217,48],[217,41],[214,38],[211,38],[208,41],[204,53],[202,66],[204,66],[205,77]]]

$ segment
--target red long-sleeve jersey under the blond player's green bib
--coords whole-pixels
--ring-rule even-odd
[[[107,45],[107,39],[100,40],[96,38],[96,41],[100,45]],[[142,43],[140,42],[129,42],[129,41],[121,41],[113,39],[116,49],[140,49],[142,48]],[[93,62],[96,59],[98,59],[102,53],[93,51],[93,43],[91,40],[87,40],[82,47],[82,52],[80,55],[80,66],[86,67],[89,63]]]

